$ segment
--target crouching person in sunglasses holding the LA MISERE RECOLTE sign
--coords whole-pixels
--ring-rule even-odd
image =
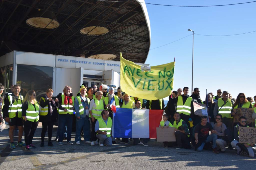
[[[231,142],[233,148],[237,150],[236,155],[241,155],[246,152],[250,158],[254,157],[254,152],[252,150],[253,144],[250,143],[239,143],[239,127],[249,127],[246,124],[246,117],[239,117],[238,124],[234,127],[234,140]]]

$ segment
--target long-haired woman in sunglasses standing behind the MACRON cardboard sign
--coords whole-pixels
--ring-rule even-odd
[[[233,109],[237,109],[237,108],[252,108],[252,104],[246,99],[246,96],[244,93],[239,93],[237,96],[236,102],[233,105]],[[236,115],[236,113],[233,111],[233,109],[231,110],[232,116]],[[238,122],[235,122],[234,124],[236,125],[237,123]],[[251,123],[249,124],[249,126],[250,125],[251,125]],[[254,125],[254,127],[255,127],[255,125]]]

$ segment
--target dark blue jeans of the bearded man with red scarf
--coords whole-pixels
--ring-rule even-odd
[[[65,129],[65,125],[67,125],[67,142],[71,140],[71,133],[72,133],[72,121],[73,121],[73,114],[60,114],[59,115],[59,125],[58,125],[58,133],[63,134]],[[59,136],[58,142],[63,141],[63,135]]]

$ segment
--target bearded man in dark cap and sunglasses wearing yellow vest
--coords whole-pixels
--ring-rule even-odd
[[[221,121],[229,128],[230,132],[233,132],[233,117],[231,116],[233,105],[234,101],[229,99],[228,91],[223,91],[222,98],[218,99],[213,110],[214,117],[217,114],[221,114]]]

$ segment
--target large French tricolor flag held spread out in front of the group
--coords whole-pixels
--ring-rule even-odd
[[[116,138],[156,138],[163,110],[117,108],[112,134]]]

